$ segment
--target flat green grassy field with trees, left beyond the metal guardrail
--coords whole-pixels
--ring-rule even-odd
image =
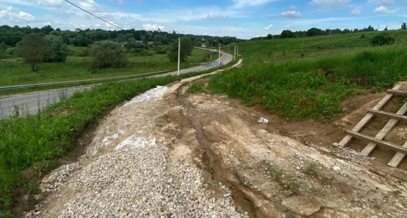
[[[129,52],[128,56],[131,67],[128,69],[101,69],[89,70],[89,57],[83,56],[85,47],[69,47],[71,54],[65,63],[42,63],[38,72],[31,72],[30,66],[21,58],[9,57],[0,60],[2,72],[1,86],[13,86],[35,83],[110,78],[126,75],[134,75],[162,70],[176,70],[177,63],[168,60],[167,54],[156,54],[154,50],[145,50],[151,56],[140,56]],[[199,62],[210,61],[206,51],[194,49],[188,56],[188,62],[181,62],[182,68],[192,67]]]

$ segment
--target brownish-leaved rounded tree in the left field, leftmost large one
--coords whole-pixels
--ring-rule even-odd
[[[17,55],[23,57],[31,65],[31,70],[35,72],[37,65],[44,61],[49,44],[42,35],[31,33],[24,36],[21,46],[18,48]]]

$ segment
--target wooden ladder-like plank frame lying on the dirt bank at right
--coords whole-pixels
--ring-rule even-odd
[[[400,120],[407,120],[407,116],[404,115],[407,112],[407,102],[397,111],[397,113],[389,113],[381,111],[380,109],[394,95],[407,96],[407,91],[398,90],[400,87],[401,85],[397,84],[392,89],[387,90],[387,94],[379,101],[379,103],[377,103],[373,109],[369,109],[368,113],[357,125],[355,125],[355,127],[353,127],[352,130],[346,131],[346,136],[338,143],[338,145],[342,147],[346,146],[353,137],[361,140],[367,140],[369,141],[369,144],[367,144],[367,146],[360,152],[360,154],[364,156],[369,156],[377,145],[385,146],[388,149],[397,152],[397,154],[394,155],[387,165],[397,167],[407,154],[407,141],[403,144],[403,146],[400,146],[384,141],[383,139]],[[379,133],[376,134],[375,137],[361,134],[359,131],[373,118],[374,115],[388,117],[390,118],[390,121],[380,130]]]

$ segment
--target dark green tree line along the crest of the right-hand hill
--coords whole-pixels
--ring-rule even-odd
[[[387,28],[385,29],[387,30]],[[406,30],[406,23],[403,23],[401,26],[401,30]],[[336,35],[336,34],[348,34],[348,33],[355,33],[355,32],[370,32],[370,31],[377,31],[375,28],[373,28],[371,25],[369,25],[367,28],[363,29],[326,29],[322,30],[319,28],[311,28],[307,31],[290,31],[290,30],[283,30],[281,34],[278,35],[272,35],[268,34],[267,36],[260,36],[260,37],[254,37],[251,38],[250,40],[265,40],[265,39],[284,39],[284,38],[301,38],[301,37],[310,37],[310,36],[318,36],[318,35]]]

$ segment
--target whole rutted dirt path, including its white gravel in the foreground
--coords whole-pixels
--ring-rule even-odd
[[[195,79],[112,111],[88,156],[57,170],[60,182],[45,178],[50,194],[27,217],[407,216],[405,170],[332,146],[337,125],[186,94]]]

